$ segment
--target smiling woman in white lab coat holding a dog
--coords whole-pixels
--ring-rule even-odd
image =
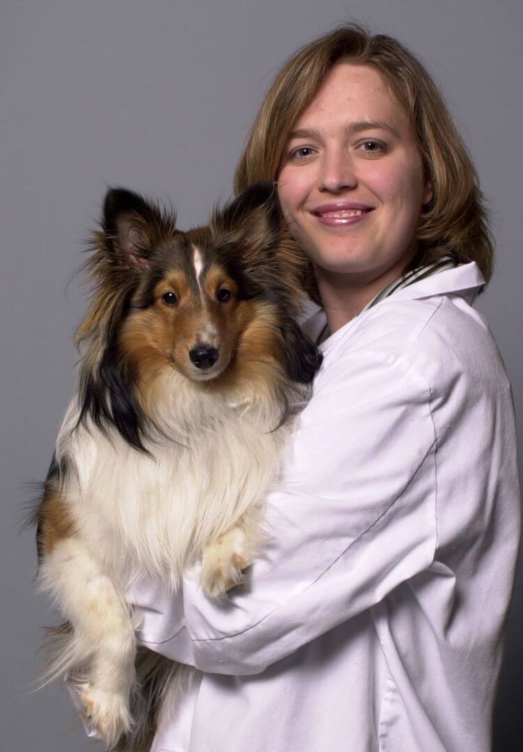
[[[249,589],[132,593],[144,644],[200,669],[153,750],[488,750],[519,492],[473,166],[412,54],[348,26],[269,90],[236,188],[268,178],[324,365]]]

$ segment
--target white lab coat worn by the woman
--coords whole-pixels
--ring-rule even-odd
[[[434,274],[321,344],[248,589],[129,591],[141,641],[201,669],[153,752],[490,749],[520,521],[483,282]]]

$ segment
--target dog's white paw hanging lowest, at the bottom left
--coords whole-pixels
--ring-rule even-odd
[[[122,734],[131,730],[132,717],[125,697],[102,690],[95,684],[78,687],[78,696],[87,720],[96,728],[108,749],[114,747]]]

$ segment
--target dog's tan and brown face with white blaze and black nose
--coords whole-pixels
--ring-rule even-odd
[[[184,233],[152,253],[120,335],[142,381],[173,367],[193,381],[220,376],[241,329],[237,292],[205,243]]]

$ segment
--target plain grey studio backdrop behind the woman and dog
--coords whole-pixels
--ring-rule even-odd
[[[71,336],[85,298],[76,284],[66,295],[65,283],[81,261],[79,241],[107,185],[172,199],[182,228],[205,222],[214,200],[230,193],[236,159],[279,65],[347,20],[395,35],[421,57],[470,147],[497,238],[496,274],[478,308],[512,378],[521,438],[520,0],[3,0],[0,747],[6,752],[93,749],[60,687],[30,693],[41,666],[41,625],[56,615],[35,597],[33,532],[20,532],[30,495],[24,484],[44,478],[74,384]],[[522,620],[520,580],[496,750],[521,748]]]

